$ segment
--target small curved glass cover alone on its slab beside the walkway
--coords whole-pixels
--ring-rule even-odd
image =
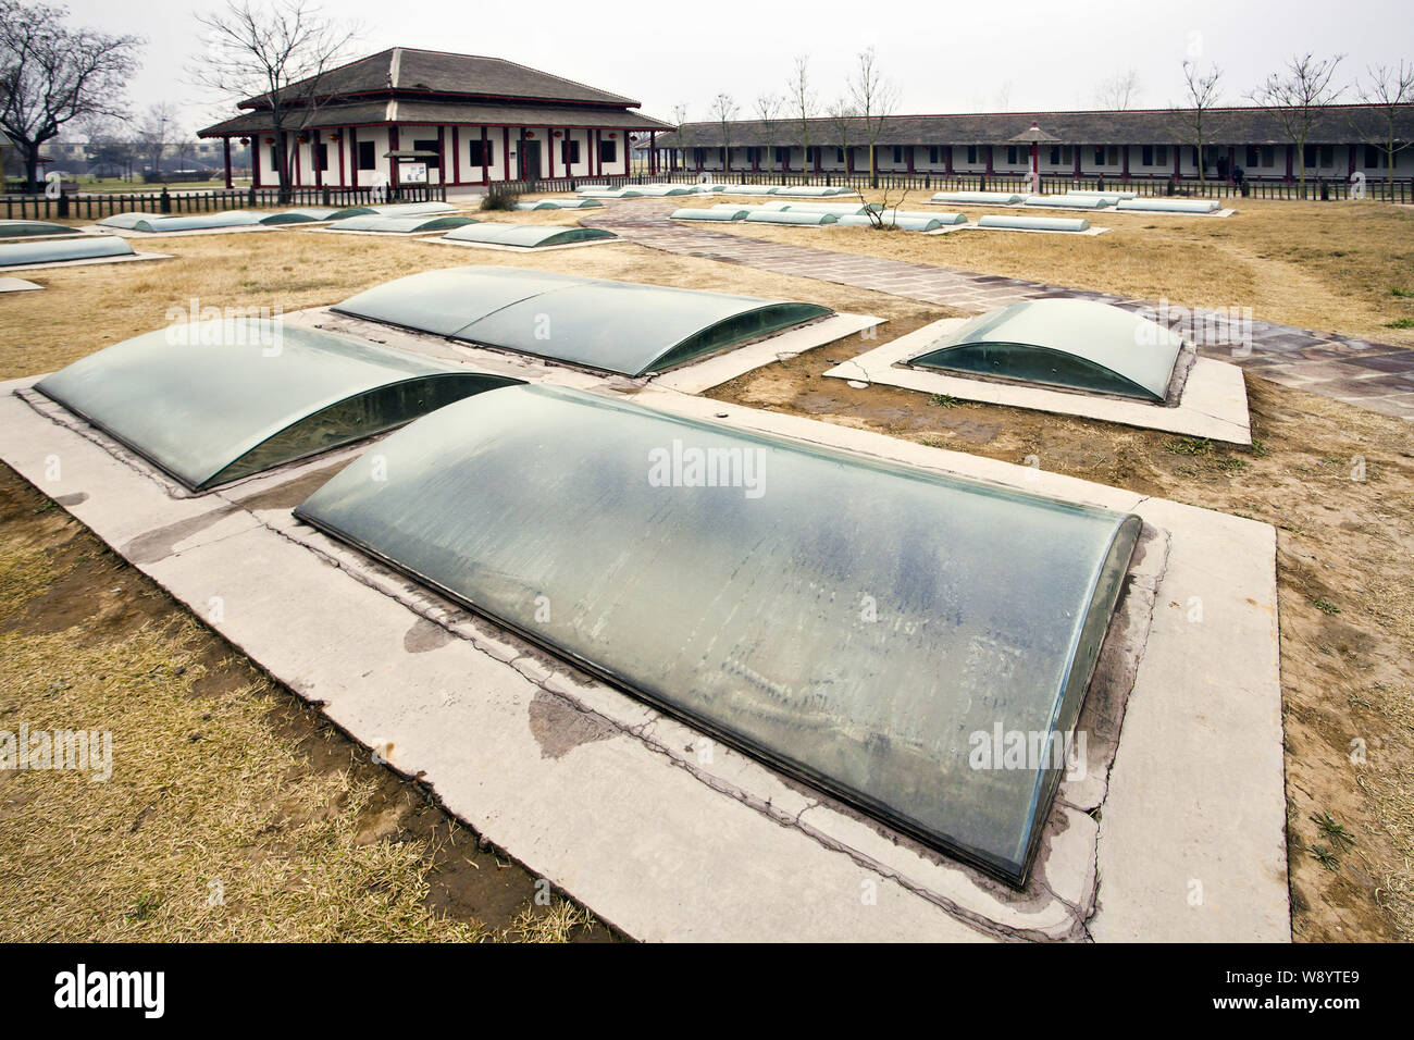
[[[973,318],[909,364],[1161,402],[1182,337],[1092,300],[1027,300]]]

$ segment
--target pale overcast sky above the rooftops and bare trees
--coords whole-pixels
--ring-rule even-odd
[[[198,93],[184,74],[201,48],[194,13],[222,4],[69,0],[68,6],[75,23],[146,37],[143,69],[132,83],[134,108],[170,99],[182,105],[187,129],[195,129],[232,110]],[[810,55],[823,108],[843,93],[854,55],[870,44],[898,86],[901,113],[1092,108],[1097,86],[1127,68],[1138,74],[1138,106],[1162,106],[1181,100],[1188,57],[1222,67],[1226,103],[1246,103],[1244,95],[1298,51],[1345,54],[1342,81],[1363,75],[1372,64],[1414,59],[1410,0],[1246,7],[1220,0],[1005,6],[542,0],[527,8],[465,0],[337,0],[325,10],[362,24],[358,54],[403,45],[509,58],[638,98],[645,113],[666,120],[677,103],[689,106],[690,119],[706,119],[718,92],[731,93],[744,117],[751,115],[759,95],[785,93],[797,54]]]

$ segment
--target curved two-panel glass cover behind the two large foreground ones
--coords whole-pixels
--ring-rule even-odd
[[[369,289],[334,310],[628,376],[833,313],[813,303],[518,267],[430,270]]]

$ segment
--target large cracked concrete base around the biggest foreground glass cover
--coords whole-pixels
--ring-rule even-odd
[[[1167,553],[1155,548],[1131,573],[1137,613],[1126,617],[1150,628],[1128,710],[1121,723],[1113,702],[1087,702],[1113,767],[1066,781],[1032,882],[1014,891],[294,521],[290,509],[356,449],[180,498],[98,430],[14,392],[31,382],[0,385],[10,466],[488,840],[631,935],[1290,937],[1268,525],[653,383],[594,388],[1145,519],[1145,545]],[[1185,901],[1193,879],[1196,904]]]

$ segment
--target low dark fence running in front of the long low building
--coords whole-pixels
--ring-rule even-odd
[[[625,184],[696,184],[706,178],[714,184],[843,184],[854,190],[870,187],[867,173],[766,173],[754,170],[742,173],[732,170],[724,174],[720,170],[670,170],[656,175],[633,174],[632,177],[557,177],[542,178],[539,181],[502,181],[491,185],[493,192],[525,194],[575,191],[577,188],[598,184],[604,187],[622,187]],[[912,191],[1014,191],[1028,194],[1029,185],[1025,177],[1014,174],[937,174],[937,173],[880,173],[877,177],[881,188],[908,188]],[[1285,198],[1309,201],[1339,201],[1357,198],[1357,188],[1345,180],[1308,178],[1305,188],[1297,181],[1284,178],[1251,180],[1243,184],[1230,184],[1226,180],[1199,181],[1193,178],[1131,178],[1120,177],[1042,177],[1042,195],[1063,194],[1072,188],[1090,191],[1133,191],[1141,197],[1176,197],[1176,198]],[[1397,178],[1394,181],[1367,181],[1363,185],[1365,198],[1381,202],[1414,202],[1414,178]]]

